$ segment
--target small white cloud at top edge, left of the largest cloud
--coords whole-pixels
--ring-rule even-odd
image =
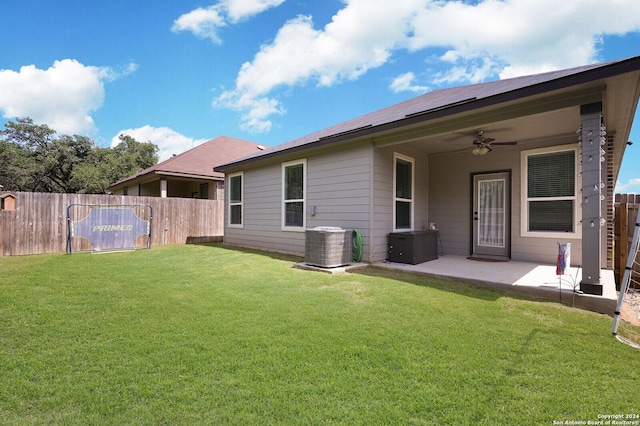
[[[219,29],[228,23],[237,23],[272,7],[280,6],[285,0],[222,0],[208,7],[199,7],[185,13],[173,22],[171,31],[191,31],[196,37],[208,38],[219,44],[222,39]]]

